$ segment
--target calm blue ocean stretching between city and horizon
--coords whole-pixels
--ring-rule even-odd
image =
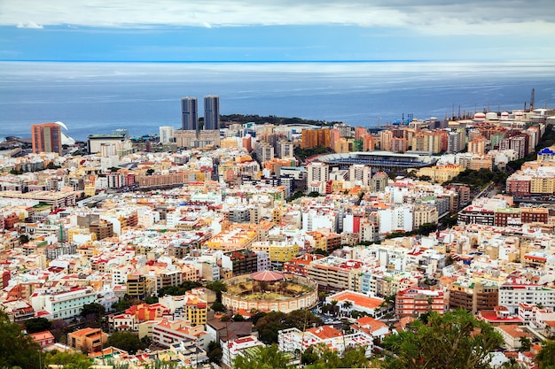
[[[443,119],[452,111],[555,107],[553,61],[88,63],[1,62],[0,138],[30,137],[62,121],[86,140],[116,128],[130,135],[181,127],[180,98],[220,96],[222,114],[343,121]]]

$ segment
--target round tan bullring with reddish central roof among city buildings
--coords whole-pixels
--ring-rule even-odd
[[[290,312],[311,308],[318,302],[315,281],[293,274],[262,271],[226,280],[222,303],[233,311]]]

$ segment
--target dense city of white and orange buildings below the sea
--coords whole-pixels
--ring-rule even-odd
[[[555,110],[203,112],[0,143],[0,368],[555,367]]]

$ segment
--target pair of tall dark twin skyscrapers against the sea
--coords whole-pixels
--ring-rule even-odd
[[[181,99],[181,129],[199,131],[199,102],[196,97]],[[220,96],[204,96],[205,131],[220,129]]]

